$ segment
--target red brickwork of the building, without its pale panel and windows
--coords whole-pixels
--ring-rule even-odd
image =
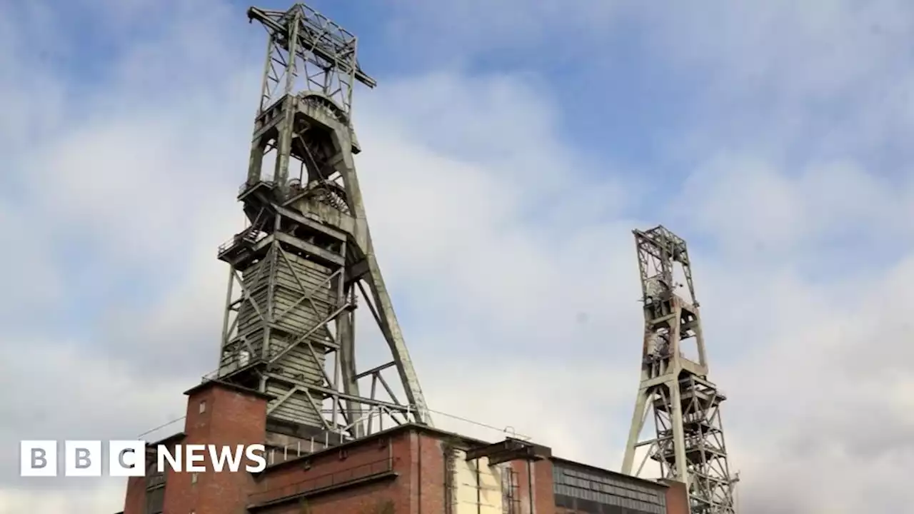
[[[267,398],[210,382],[188,391],[181,444],[261,444]],[[200,412],[200,403],[206,408]],[[250,473],[168,471],[167,514],[446,514],[448,446],[479,444],[453,434],[401,427],[337,448],[292,458]],[[207,465],[208,466],[208,465]],[[555,506],[553,463],[513,461],[518,514],[561,514]],[[531,494],[532,492],[532,494]],[[274,501],[288,498],[288,501]],[[685,487],[671,483],[669,514],[688,514]],[[128,482],[124,514],[146,514],[145,478]]]

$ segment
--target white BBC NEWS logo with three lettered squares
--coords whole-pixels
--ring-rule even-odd
[[[144,441],[109,441],[108,458],[101,453],[101,441],[64,441],[64,477],[101,477],[102,463],[108,463],[110,477],[143,477],[146,474],[146,443]],[[57,441],[21,441],[19,474],[22,477],[57,477]],[[216,473],[238,473],[245,457],[245,471],[258,473],[267,467],[263,444],[176,444],[171,448],[159,444],[155,448],[155,470],[165,473],[203,473],[207,462]],[[167,463],[167,466],[166,466]]]

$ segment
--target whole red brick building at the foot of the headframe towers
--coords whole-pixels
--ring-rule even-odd
[[[186,392],[183,433],[157,444],[264,444],[269,398],[218,381]],[[151,445],[151,449],[155,445]],[[260,473],[132,477],[122,514],[688,514],[685,487],[418,424],[348,442],[268,446]]]

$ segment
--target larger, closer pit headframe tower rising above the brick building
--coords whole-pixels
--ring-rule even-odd
[[[251,7],[248,16],[266,27],[269,43],[238,197],[250,223],[218,252],[230,274],[216,375],[274,397],[272,434],[347,439],[383,429],[385,419],[429,424],[353,162],[353,90],[356,81],[376,85],[356,61],[356,37],[302,4]],[[388,363],[362,371],[357,298],[390,354]],[[390,368],[405,402],[382,374],[393,375]],[[367,395],[363,379],[370,380]],[[376,396],[378,384],[385,399]]]

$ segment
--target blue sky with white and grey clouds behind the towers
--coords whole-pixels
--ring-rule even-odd
[[[314,4],[378,80],[356,164],[427,400],[617,469],[631,230],[664,223],[742,512],[905,511],[914,5],[685,4]],[[0,514],[122,509],[118,480],[17,477],[18,440],[135,437],[215,368],[265,44],[247,6],[0,0]]]

